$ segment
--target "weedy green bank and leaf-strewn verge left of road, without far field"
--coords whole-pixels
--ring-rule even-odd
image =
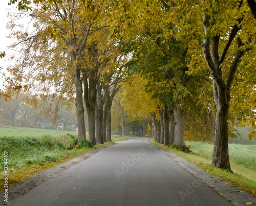
[[[67,134],[55,137],[50,135],[42,137],[0,137],[1,159],[3,159],[4,151],[8,152],[8,185],[11,187],[40,171],[65,163],[84,155],[88,151],[126,139],[112,137],[112,142],[98,144],[92,148],[68,150],[67,147],[74,140],[74,137]],[[0,165],[0,169],[1,191],[4,188],[4,164]]]

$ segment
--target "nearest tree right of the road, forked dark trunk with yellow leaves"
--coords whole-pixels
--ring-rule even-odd
[[[255,20],[247,12],[248,7],[244,1],[222,3],[212,1],[200,5],[198,3],[181,5],[185,15],[180,15],[180,18],[183,18],[183,30],[190,32],[188,35],[200,34],[202,26],[198,22],[203,19],[204,37],[201,46],[211,74],[216,105],[212,164],[231,170],[228,155],[228,114],[232,85],[238,71],[243,70],[240,64],[245,54],[254,53],[251,50],[254,44],[252,38],[254,31],[249,32],[249,28],[255,28]],[[188,11],[188,7],[194,9]],[[193,28],[199,29],[196,31]],[[251,72],[247,74],[252,75]]]

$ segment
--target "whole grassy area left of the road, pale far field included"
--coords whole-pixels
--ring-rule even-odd
[[[126,138],[112,137],[113,142],[91,147],[73,147],[76,132],[43,130],[24,127],[0,127],[0,179],[4,177],[4,152],[8,152],[8,184],[13,186],[32,175],[54,167],[84,153],[114,144],[114,141]],[[90,143],[90,142],[87,142]],[[85,144],[88,145],[88,144]],[[0,182],[0,191],[4,189],[4,181]]]

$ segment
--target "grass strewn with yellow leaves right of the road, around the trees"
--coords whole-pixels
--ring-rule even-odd
[[[252,193],[255,196],[256,191],[256,168],[255,168],[255,153],[256,147],[254,145],[229,145],[230,164],[233,173],[226,170],[216,168],[211,165],[211,156],[213,151],[212,144],[202,142],[186,142],[193,151],[185,153],[164,146],[162,144],[152,141],[152,144],[158,146],[160,149],[176,153],[182,159],[195,164],[197,167],[206,172],[218,176],[227,183],[243,188],[245,191]]]

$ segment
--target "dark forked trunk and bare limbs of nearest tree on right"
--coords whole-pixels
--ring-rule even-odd
[[[242,4],[242,1],[240,2]],[[241,6],[241,5],[240,5]],[[239,7],[240,7],[239,6]],[[221,54],[219,55],[219,41],[220,35],[216,35],[209,38],[209,32],[211,28],[210,16],[205,15],[203,18],[203,25],[205,31],[205,38],[202,43],[202,51],[204,58],[208,64],[208,68],[211,72],[213,81],[214,100],[216,104],[216,122],[215,122],[215,140],[214,140],[214,153],[212,155],[212,164],[218,168],[227,169],[231,171],[228,155],[228,110],[230,101],[230,89],[234,79],[234,75],[237,72],[238,63],[245,54],[245,51],[240,47],[243,45],[241,39],[237,39],[238,51],[235,58],[233,58],[230,64],[227,78],[224,79],[222,75],[221,64],[224,62],[228,49],[236,37],[237,33],[241,29],[240,23],[243,19],[238,19],[238,24],[232,25],[228,40],[223,47]],[[214,22],[213,22],[214,23]]]

